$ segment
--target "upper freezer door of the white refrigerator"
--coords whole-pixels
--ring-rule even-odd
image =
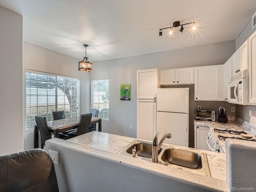
[[[158,88],[157,111],[188,113],[189,88]]]

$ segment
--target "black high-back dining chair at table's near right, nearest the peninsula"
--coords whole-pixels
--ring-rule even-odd
[[[68,132],[66,135],[72,138],[72,137],[76,137],[76,136],[88,133],[91,120],[92,120],[91,113],[82,114],[80,116],[80,121],[79,121],[77,130]]]

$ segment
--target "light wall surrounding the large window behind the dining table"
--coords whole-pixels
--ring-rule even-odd
[[[64,76],[80,78],[80,100],[81,114],[90,112],[90,73],[79,71],[80,60],[24,42],[23,45],[23,77],[25,70],[59,74]],[[25,114],[25,84],[24,92],[24,114]],[[34,133],[24,133],[24,150],[34,148]]]

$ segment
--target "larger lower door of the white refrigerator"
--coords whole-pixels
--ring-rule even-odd
[[[157,112],[156,116],[156,132],[160,132],[158,142],[170,132],[172,138],[166,138],[164,143],[188,147],[188,114]]]

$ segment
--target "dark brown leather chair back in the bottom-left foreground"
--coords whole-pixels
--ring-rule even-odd
[[[0,165],[0,191],[59,191],[52,158],[45,150],[0,156]]]

